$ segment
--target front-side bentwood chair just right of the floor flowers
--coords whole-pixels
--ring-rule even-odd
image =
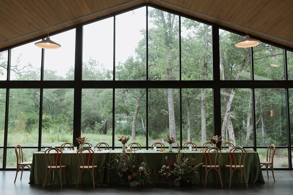
[[[212,149],[217,150],[217,153],[216,152],[212,153],[213,156],[215,155],[215,158],[211,158],[210,151]],[[209,174],[209,171],[215,170],[217,183],[218,183],[218,178],[217,178],[217,174],[218,174],[220,177],[221,186],[223,187],[223,182],[222,182],[222,177],[221,177],[221,169],[220,169],[221,156],[222,156],[222,151],[219,148],[210,147],[205,150],[205,165],[202,165],[202,168],[205,169],[205,185],[207,183],[207,175]]]

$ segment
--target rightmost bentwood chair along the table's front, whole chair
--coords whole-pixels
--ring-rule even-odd
[[[237,150],[238,154],[238,160],[235,158],[235,151]],[[229,151],[229,158],[230,158],[230,164],[225,165],[226,168],[226,177],[225,177],[225,182],[227,179],[227,172],[230,170],[230,182],[229,182],[229,187],[231,187],[231,181],[232,181],[232,175],[233,172],[238,170],[239,175],[240,175],[240,182],[242,183],[242,177],[241,177],[241,172],[243,173],[246,187],[248,187],[247,180],[246,180],[246,173],[245,173],[245,160],[246,160],[246,150],[240,147],[232,148]],[[238,163],[237,163],[238,162]]]

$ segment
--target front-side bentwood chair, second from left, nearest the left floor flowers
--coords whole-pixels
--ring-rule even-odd
[[[88,153],[88,154],[86,153],[86,158],[82,156],[83,151],[86,151]],[[94,174],[96,172],[98,165],[94,165],[93,150],[90,148],[82,148],[76,154],[78,159],[78,180],[77,180],[76,188],[78,187],[78,184],[81,184],[82,172],[84,172],[85,170],[88,170],[89,172],[91,172],[92,179],[93,179],[93,188],[95,188]]]

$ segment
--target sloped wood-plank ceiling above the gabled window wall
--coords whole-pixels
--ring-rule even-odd
[[[130,0],[1,0],[0,1],[0,42],[23,34],[34,32],[106,8],[111,8]],[[164,0],[165,2],[204,13],[231,23],[245,26],[245,1],[243,0]],[[292,0],[246,0],[247,25],[282,39],[293,42],[293,1]],[[137,0],[113,9],[81,18],[57,27],[55,32],[84,23],[88,20],[115,13],[143,3],[151,3],[184,13],[202,20],[245,32],[245,29],[225,22],[187,11],[157,0]],[[48,30],[0,44],[0,49],[47,34]],[[293,48],[292,43],[248,31],[255,37],[269,40]]]

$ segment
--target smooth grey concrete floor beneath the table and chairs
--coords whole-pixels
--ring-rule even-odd
[[[22,180],[20,180],[20,174],[18,174],[14,184],[15,171],[0,171],[0,194],[293,194],[293,171],[275,171],[276,182],[274,182],[271,172],[269,173],[270,179],[267,179],[266,172],[263,171],[266,183],[248,184],[248,188],[245,187],[245,184],[233,184],[231,188],[227,184],[224,185],[224,188],[220,185],[207,184],[206,188],[203,185],[180,186],[170,189],[165,185],[156,185],[155,189],[149,185],[144,187],[113,185],[93,189],[91,185],[81,185],[76,189],[75,185],[63,185],[63,189],[60,189],[59,185],[47,185],[43,189],[42,185],[28,184],[29,175],[30,172],[25,171]]]

